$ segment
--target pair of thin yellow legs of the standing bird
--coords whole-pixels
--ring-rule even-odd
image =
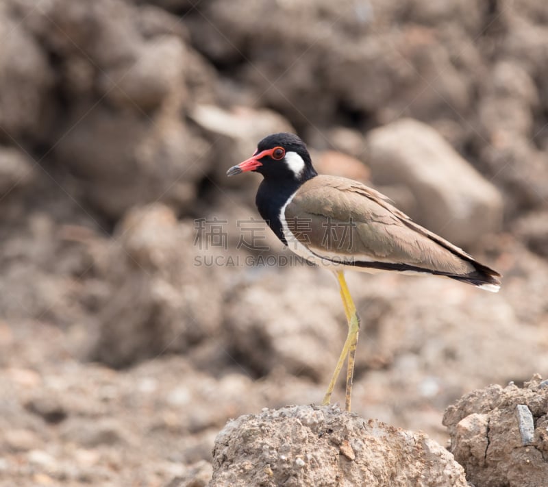
[[[358,319],[358,312],[356,311],[356,306],[352,301],[352,297],[348,290],[347,282],[345,280],[345,275],[343,271],[338,271],[336,273],[339,288],[340,288],[340,297],[343,299],[343,306],[345,307],[345,314],[348,321],[348,335],[345,340],[345,345],[343,345],[343,351],[340,352],[335,371],[329,386],[327,386],[327,392],[323,397],[322,404],[329,404],[331,400],[331,395],[335,384],[337,382],[338,376],[340,374],[340,369],[343,369],[343,364],[345,363],[346,358],[348,357],[347,365],[347,392],[346,392],[346,410],[350,411],[350,402],[352,395],[352,379],[354,374],[354,361],[356,358],[356,347],[358,345],[358,332],[360,330],[360,319]]]

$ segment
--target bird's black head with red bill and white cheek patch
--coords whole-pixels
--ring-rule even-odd
[[[287,132],[266,136],[251,158],[229,168],[227,175],[235,176],[245,171],[260,173],[264,179],[290,179],[301,183],[317,174],[305,143]]]

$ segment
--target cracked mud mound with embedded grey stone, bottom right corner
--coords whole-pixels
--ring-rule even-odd
[[[447,408],[451,452],[475,487],[540,487],[548,482],[548,381],[521,389],[492,385]]]

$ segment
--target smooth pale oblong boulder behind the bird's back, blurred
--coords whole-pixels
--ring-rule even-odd
[[[418,223],[461,246],[501,227],[502,198],[431,127],[412,119],[367,135],[375,184],[406,184],[414,193]],[[388,195],[390,196],[390,195]]]

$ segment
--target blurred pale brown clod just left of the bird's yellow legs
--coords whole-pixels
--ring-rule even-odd
[[[336,283],[322,269],[294,263],[290,251],[273,261],[284,267],[282,278],[257,275],[251,285],[234,288],[225,304],[229,351],[260,377],[283,367],[327,384],[346,335]],[[311,294],[295,292],[312,286]]]

